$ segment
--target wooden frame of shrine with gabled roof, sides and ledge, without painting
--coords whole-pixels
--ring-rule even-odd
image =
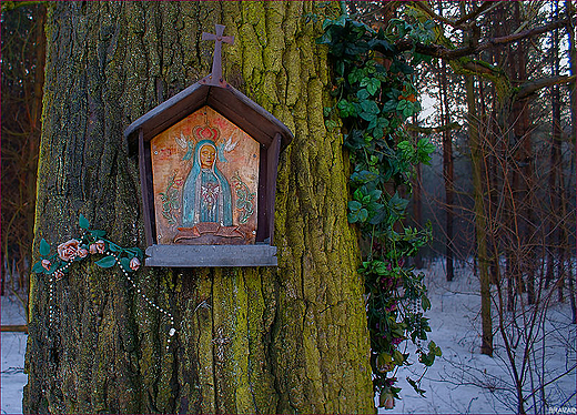
[[[151,140],[204,105],[246,132],[261,146],[255,245],[158,245],[152,182]],[[154,108],[124,131],[129,154],[139,155],[148,266],[264,266],[276,265],[274,202],[279,156],[293,139],[291,131],[224,80],[209,75]],[[211,247],[212,246],[212,247]],[[225,255],[224,255],[224,252]],[[237,255],[235,254],[237,253]],[[231,261],[230,257],[236,257]],[[198,260],[191,260],[196,256]]]

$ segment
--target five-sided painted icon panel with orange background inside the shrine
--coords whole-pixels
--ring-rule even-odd
[[[158,244],[254,244],[260,144],[205,105],[151,141]]]

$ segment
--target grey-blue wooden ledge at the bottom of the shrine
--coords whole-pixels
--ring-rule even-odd
[[[270,245],[152,245],[146,266],[277,266]]]

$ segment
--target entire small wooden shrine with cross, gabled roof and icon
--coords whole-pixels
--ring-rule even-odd
[[[146,266],[275,266],[279,155],[291,131],[222,77],[224,26],[212,73],[124,131],[138,154]]]

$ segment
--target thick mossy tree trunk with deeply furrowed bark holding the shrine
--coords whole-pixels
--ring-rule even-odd
[[[334,4],[337,6],[337,4]],[[143,247],[136,161],[124,129],[207,74],[226,26],[225,78],[295,134],[281,155],[277,269],[141,269],[150,307],[92,260],[54,284],[34,275],[26,413],[370,413],[368,333],[346,220],[342,136],[325,131],[331,11],[313,2],[55,2],[47,77],[34,253],[79,234],[79,214]],[[37,257],[38,259],[38,257]],[[52,301],[50,301],[52,300]],[[53,307],[53,318],[49,310]]]

